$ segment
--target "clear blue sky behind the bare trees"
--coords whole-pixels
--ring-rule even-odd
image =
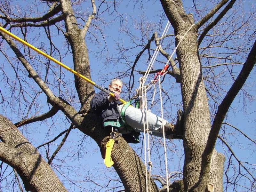
[[[201,1],[204,2],[204,1]],[[250,9],[252,9],[253,6],[253,0],[252,1],[244,1],[244,9],[245,11],[249,11]],[[190,0],[185,0],[184,4],[186,7],[191,7],[192,6],[193,1]],[[25,3],[26,4],[26,3]],[[96,6],[99,3],[96,1]],[[125,6],[124,6],[125,4]],[[137,5],[139,6],[139,5]],[[82,6],[81,9],[85,9],[85,7],[87,6]],[[255,8],[254,8],[255,9]],[[88,6],[88,11],[91,10],[91,7]],[[136,21],[140,21],[140,16],[141,15],[145,15],[144,19],[147,18],[147,20],[151,23],[158,23],[159,22],[159,14],[161,13],[162,10],[161,8],[161,4],[156,1],[155,3],[153,1],[149,1],[149,2],[144,2],[143,1],[143,14],[141,10],[138,10],[137,7],[133,7],[133,4],[130,1],[123,1],[120,6],[117,8],[118,12],[120,14],[123,15],[124,18],[128,19],[128,23],[127,26],[129,26],[129,28],[134,27],[133,24],[131,23],[130,16],[132,15],[133,18]],[[103,17],[104,15],[102,15]],[[254,15],[255,16],[255,15]],[[119,43],[123,43],[125,46],[129,47],[132,46],[132,42],[131,40],[124,34],[120,33],[120,20],[116,19],[114,22],[112,21],[113,18],[107,18],[106,22],[109,22],[108,26],[106,26],[104,28],[104,38],[107,42],[107,46],[108,46],[108,52],[103,51],[101,52],[101,56],[102,58],[99,57],[99,54],[96,55],[95,52],[98,52],[100,50],[102,50],[102,45],[104,44],[102,39],[101,42],[102,44],[100,45],[100,47],[98,47],[98,44],[94,43],[94,42],[90,42],[90,40],[86,39],[87,42],[87,46],[88,46],[88,50],[89,50],[89,58],[90,58],[90,65],[91,65],[91,70],[92,70],[92,79],[93,81],[95,81],[97,84],[103,84],[105,79],[111,79],[113,77],[116,76],[116,74],[114,74],[113,72],[116,71],[121,71],[122,68],[125,68],[126,66],[124,66],[124,64],[120,64],[120,65],[115,65],[113,66],[113,63],[109,63],[107,65],[103,65],[103,63],[105,62],[105,58],[108,57],[116,57],[117,55],[117,51],[116,51],[116,44]],[[166,21],[166,19],[164,19]],[[163,22],[164,25],[166,22]],[[255,24],[255,22],[254,22]],[[162,26],[164,28],[164,26]],[[158,34],[160,35],[163,31],[163,28],[157,28],[156,30],[158,30]],[[42,30],[42,29],[41,29]],[[133,30],[133,32],[140,37],[140,33],[139,31]],[[57,34],[56,31],[54,31],[55,34]],[[92,31],[93,33],[93,31]],[[173,33],[172,30],[169,33]],[[17,33],[14,34],[18,35]],[[36,39],[32,40],[34,37],[30,36],[30,40],[32,40],[32,42],[34,42],[34,46],[36,46],[36,44],[40,45],[41,43],[44,43],[44,37],[43,32],[40,32],[39,30],[35,30],[35,32],[33,33],[34,37]],[[148,36],[152,36],[152,34],[149,34]],[[37,39],[39,37],[39,40]],[[99,38],[102,38],[99,35]],[[58,47],[62,47],[65,39],[63,37],[62,34],[60,34],[60,36],[56,36],[54,39],[52,39],[52,41],[58,46]],[[151,48],[154,48],[155,46],[152,44]],[[141,50],[138,49],[138,51]],[[63,52],[65,52],[65,50],[63,50]],[[3,56],[1,55],[1,58]],[[135,59],[135,56],[133,57]],[[57,58],[58,59],[58,58]],[[133,60],[134,60],[133,59]],[[62,62],[64,64],[67,64],[69,67],[72,67],[72,63],[73,60],[71,57],[66,57],[65,60],[62,60]],[[124,63],[124,60],[121,60],[122,63]],[[139,62],[138,64],[140,70],[146,70],[147,66],[143,63],[143,62]],[[156,68],[162,68],[163,64],[160,63],[156,63]],[[9,74],[13,74],[13,71],[11,70],[11,68],[6,67],[5,70],[9,73]],[[10,71],[9,71],[10,70]],[[65,73],[65,78],[68,79],[70,78],[73,81],[73,75],[70,74],[69,72]],[[136,80],[138,81],[139,76],[136,76]],[[255,76],[251,76],[250,81],[255,82]],[[175,86],[176,88],[179,86],[177,84],[175,84],[173,82],[173,80],[170,80],[171,85],[173,84],[173,86]],[[128,83],[128,78],[124,78],[124,83]],[[164,89],[165,90],[169,90],[170,89],[170,84],[168,82],[164,83]],[[105,86],[108,85],[108,82],[104,84]],[[138,86],[138,83],[135,83],[135,86]],[[70,84],[69,85],[70,88],[74,88],[74,84]],[[137,88],[137,87],[135,87]],[[1,90],[4,89],[3,85],[1,85]],[[58,95],[58,92],[56,92],[56,90],[54,90],[55,94]],[[97,92],[98,90],[96,90]],[[6,95],[10,95],[10,93],[4,92]],[[252,91],[251,93],[254,95],[256,95],[255,92],[255,86],[252,87]],[[172,92],[172,90],[169,91],[169,94],[172,95],[172,99],[175,102],[175,104],[179,103],[181,101],[181,95],[180,95],[180,90],[179,87],[177,89],[175,89],[174,92]],[[71,96],[76,96],[76,94],[74,94],[74,91],[71,92],[70,90],[68,91],[68,97]],[[66,98],[66,99],[67,99]],[[72,99],[72,98],[71,98]],[[232,107],[233,108],[242,108],[243,103],[241,103],[239,99],[239,96],[236,98],[236,100],[232,103]],[[48,109],[48,106],[46,103],[43,103],[45,101],[45,96],[44,94],[41,94],[40,97],[37,99],[38,101],[42,100],[42,108],[40,112],[46,112]],[[77,97],[76,99],[77,100]],[[171,104],[169,103],[169,106]],[[77,105],[76,105],[77,106]],[[167,105],[168,106],[168,105]],[[238,106],[238,107],[237,107]],[[79,106],[77,106],[79,107]],[[176,110],[177,108],[180,108],[180,106],[172,106],[171,107],[167,107],[166,111],[165,111],[165,117],[168,120],[172,120],[173,117],[176,116]],[[2,110],[2,114],[4,114],[4,109]],[[6,109],[5,109],[6,110]],[[159,105],[155,108],[153,108],[153,111],[155,111],[157,114],[159,114]],[[255,115],[255,111],[256,111],[256,105],[255,105],[255,101],[251,102],[251,105],[248,106],[248,113],[251,113],[249,116],[251,117],[250,119],[255,119],[253,118],[253,116]],[[4,114],[6,115],[8,118],[10,118],[11,120],[13,120],[13,122],[15,123],[16,121],[19,121],[19,117],[13,115],[10,116],[9,109],[7,109],[6,111],[7,113]],[[33,111],[31,112],[31,114],[35,114],[35,112],[37,112],[36,109],[33,109]],[[40,114],[39,112],[39,114]],[[167,114],[168,112],[170,112],[170,114]],[[30,115],[31,115],[30,114]],[[29,116],[30,116],[29,115]],[[23,116],[23,115],[21,115]],[[32,144],[34,144],[34,146],[38,146],[39,144],[43,143],[46,141],[45,137],[49,135],[49,138],[54,138],[56,136],[56,134],[58,134],[59,132],[67,129],[67,122],[65,121],[65,117],[63,116],[63,114],[61,112],[59,112],[57,114],[58,118],[55,118],[54,123],[55,125],[50,129],[50,131],[48,132],[48,125],[52,124],[52,122],[47,122],[47,123],[42,123],[42,122],[38,122],[33,124],[33,126],[24,126],[24,129],[26,129],[26,131],[28,131],[31,135],[34,135],[33,137],[29,136],[29,140]],[[248,119],[245,118],[244,116],[244,112],[243,110],[239,110],[236,113],[230,113],[229,114],[230,119],[232,119],[231,121],[229,120],[229,123],[232,123],[233,125],[235,125],[236,127],[240,128],[241,130],[243,130],[247,135],[251,136],[252,138],[255,138],[255,121],[252,120],[252,122],[248,122]],[[23,132],[25,133],[25,130],[23,130]],[[233,132],[232,130],[230,130],[229,133]],[[25,135],[26,136],[26,135]],[[65,174],[68,175],[72,175],[72,179],[76,180],[78,186],[91,186],[92,188],[94,187],[94,184],[91,182],[87,182],[86,178],[90,178],[95,180],[96,182],[98,182],[101,185],[105,185],[107,180],[102,180],[103,175],[106,174],[109,177],[114,177],[116,176],[116,172],[114,171],[113,168],[106,168],[105,165],[103,164],[103,159],[101,158],[101,154],[99,152],[99,148],[96,145],[96,143],[91,140],[90,138],[86,137],[83,140],[83,146],[80,146],[79,144],[81,143],[81,140],[83,139],[84,134],[79,132],[78,130],[72,130],[72,132],[70,133],[69,137],[68,137],[68,141],[65,143],[65,145],[63,146],[64,150],[62,150],[57,156],[56,156],[56,162],[53,162],[53,167],[57,167],[57,166],[70,166],[70,170],[66,169],[66,168],[60,168],[62,172],[66,172]],[[230,139],[233,140],[233,137],[230,136]],[[51,144],[52,148],[50,150],[50,154],[52,154],[52,152],[55,150],[55,148],[59,145],[61,141],[61,138],[56,140],[53,144]],[[156,141],[156,140],[155,140]],[[232,145],[232,149],[234,150],[234,152],[236,152],[238,158],[241,158],[241,161],[250,161],[251,163],[256,163],[256,159],[255,159],[255,150],[241,150],[240,147],[238,146],[239,143],[247,143],[248,140],[245,140],[244,138],[242,138],[241,140],[235,140],[233,141]],[[177,148],[174,148],[174,144],[177,145]],[[137,145],[133,145],[132,147],[136,150],[137,148],[139,148],[142,145],[142,142],[140,144]],[[182,149],[182,142],[175,140],[168,143],[169,145],[169,154],[172,154],[172,156],[170,155],[170,160],[168,162],[168,171],[169,172],[173,172],[173,171],[177,171],[180,168],[180,172],[182,172],[182,166],[183,166],[183,149]],[[245,144],[244,146],[246,146],[247,144]],[[248,146],[247,146],[248,147]],[[255,145],[250,146],[251,148],[255,148]],[[221,145],[217,145],[216,146],[217,151],[218,152],[223,152],[223,148]],[[224,146],[225,149],[227,149]],[[152,148],[153,152],[156,152],[156,146]],[[45,155],[45,149],[44,148],[40,148],[40,152],[42,153],[42,155]],[[137,151],[140,154],[140,150]],[[164,176],[164,172],[160,172],[161,168],[164,167],[164,159],[163,159],[163,148],[159,149],[159,155],[152,155],[152,161],[154,164],[153,167],[153,173],[154,174],[161,174]],[[143,153],[142,153],[142,158],[144,157]],[[227,160],[227,159],[226,159]],[[160,163],[161,162],[161,163]],[[79,167],[78,169],[74,169],[77,170],[76,172],[71,171],[73,168],[71,168],[72,166],[77,166]],[[97,171],[95,171],[97,170]],[[58,171],[55,170],[55,172],[60,175],[60,173],[58,173]],[[253,173],[255,175],[255,173]],[[64,182],[65,186],[67,186],[67,188],[69,189],[70,183],[68,182],[68,180],[65,179],[65,176],[60,176],[61,180]],[[122,184],[120,183],[114,183],[113,185],[117,185],[120,186]],[[245,183],[245,185],[249,185],[249,183]],[[80,191],[79,187],[76,187],[75,185],[71,185],[72,187],[70,188],[70,191]],[[248,186],[249,187],[249,186]],[[86,187],[89,190],[89,187]],[[95,190],[99,190],[100,188],[97,187]],[[121,189],[121,188],[118,188]],[[92,189],[91,189],[92,190]],[[104,188],[101,189],[102,191],[104,191]],[[228,191],[232,191],[232,189],[228,190]]]

